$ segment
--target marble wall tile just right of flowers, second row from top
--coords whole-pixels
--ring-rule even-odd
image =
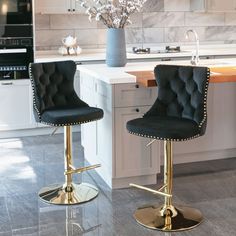
[[[183,12],[152,12],[143,13],[143,27],[184,26]]]

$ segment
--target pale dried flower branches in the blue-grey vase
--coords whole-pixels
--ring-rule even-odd
[[[79,0],[89,20],[102,21],[108,28],[124,28],[132,24],[130,15],[139,12],[147,0]]]

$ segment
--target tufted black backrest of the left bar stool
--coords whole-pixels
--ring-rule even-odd
[[[31,63],[30,80],[37,115],[45,110],[88,106],[74,90],[74,61]]]

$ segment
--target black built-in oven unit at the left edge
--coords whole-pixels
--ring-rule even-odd
[[[0,80],[29,78],[33,49],[32,0],[0,0]]]

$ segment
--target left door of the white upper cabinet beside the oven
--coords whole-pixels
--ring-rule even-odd
[[[63,14],[71,11],[71,0],[36,0],[35,12],[44,14]]]

